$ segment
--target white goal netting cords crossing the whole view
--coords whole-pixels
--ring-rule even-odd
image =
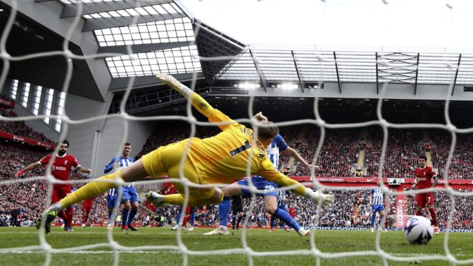
[[[75,1],[73,1],[75,2]],[[323,1],[325,2],[325,1]],[[386,5],[386,10],[388,8],[388,3],[387,1],[382,1]],[[137,1],[137,6],[140,6],[142,1]],[[329,8],[329,3],[325,3],[326,8]],[[22,60],[28,60],[28,59],[36,59],[40,57],[51,57],[51,56],[61,56],[65,57],[65,59],[74,59],[74,60],[86,60],[86,59],[98,59],[98,58],[105,58],[105,57],[119,57],[123,54],[93,54],[89,56],[79,56],[77,54],[73,54],[70,50],[68,50],[68,40],[70,40],[72,34],[73,34],[73,29],[77,26],[77,24],[80,23],[80,20],[82,18],[82,3],[79,2],[75,4],[77,6],[77,13],[75,15],[75,19],[73,23],[71,24],[70,31],[68,31],[68,36],[66,36],[65,41],[63,43],[63,50],[62,51],[56,51],[56,52],[44,52],[44,53],[38,53],[38,54],[29,54],[29,55],[24,55],[20,57],[12,57],[10,54],[8,54],[6,50],[6,41],[8,39],[8,34],[10,33],[10,30],[13,27],[13,24],[15,23],[15,18],[17,17],[17,7],[18,7],[18,1],[11,1],[11,13],[8,18],[8,22],[3,29],[3,34],[1,36],[0,40],[0,50],[1,50],[1,58],[3,59],[3,71],[1,73],[0,77],[0,84],[5,84],[7,76],[8,76],[8,70],[10,66],[11,61],[22,61]],[[445,7],[448,10],[452,9],[452,6],[446,5]],[[451,12],[451,11],[450,11]],[[453,14],[453,13],[452,13]],[[452,15],[453,17],[453,15]],[[139,17],[134,16],[133,20],[134,23],[136,24],[138,22]],[[194,33],[194,36],[197,36],[198,31],[200,30],[200,27],[195,27],[196,31]],[[313,52],[317,53],[317,50],[315,49]],[[133,54],[133,51],[131,50],[131,47],[128,46],[128,53],[126,54]],[[323,63],[322,57],[317,57],[320,59],[320,63]],[[234,57],[212,57],[212,58],[204,58],[200,57],[201,61],[219,61],[219,60],[232,60]],[[258,61],[257,58],[255,58],[256,61]],[[388,63],[385,63],[385,66],[389,66]],[[450,117],[449,117],[449,103],[451,100],[451,93],[453,91],[453,77],[456,72],[456,69],[458,66],[456,65],[451,65],[446,63],[446,67],[448,67],[451,70],[451,84],[449,86],[449,89],[447,91],[447,94],[445,95],[445,109],[444,109],[444,117],[446,119],[446,124],[392,124],[389,121],[386,121],[383,118],[382,114],[382,104],[383,104],[383,98],[384,94],[386,93],[386,90],[389,87],[389,84],[386,82],[382,84],[382,88],[380,90],[380,97],[379,100],[377,101],[377,120],[375,121],[367,121],[363,123],[354,123],[354,124],[327,124],[321,117],[320,112],[319,112],[319,92],[320,89],[316,90],[315,94],[315,100],[314,100],[314,114],[315,114],[315,119],[302,119],[302,120],[297,120],[297,121],[287,121],[283,123],[279,123],[278,126],[288,126],[288,125],[294,125],[294,124],[313,124],[317,125],[320,128],[320,141],[318,142],[317,145],[317,150],[315,152],[315,156],[313,157],[312,163],[314,165],[317,164],[317,160],[320,158],[320,152],[322,150],[322,147],[324,145],[324,139],[326,138],[326,128],[360,128],[360,127],[365,127],[365,126],[380,126],[382,128],[382,132],[384,134],[384,138],[382,141],[382,150],[380,153],[380,165],[379,165],[379,172],[378,172],[378,177],[382,178],[382,169],[384,167],[384,158],[386,156],[386,146],[388,142],[388,129],[389,128],[437,128],[437,129],[444,129],[445,131],[449,131],[451,133],[451,146],[449,150],[449,156],[448,159],[446,160],[446,165],[445,169],[442,175],[442,178],[448,180],[449,179],[449,168],[451,165],[451,158],[453,156],[453,152],[455,151],[456,147],[456,134],[457,133],[472,133],[473,128],[466,128],[466,129],[458,129],[456,126],[453,126],[451,123]],[[320,67],[322,77],[324,77],[324,68]],[[64,78],[63,82],[63,88],[62,91],[64,93],[68,93],[69,85],[70,85],[70,78],[73,73],[73,62],[72,61],[67,61],[67,70],[66,70],[66,77]],[[197,81],[197,73],[195,73],[193,77],[193,84],[191,85],[191,89],[195,87],[195,82]],[[256,80],[256,82],[259,82],[260,80]],[[128,83],[128,87],[126,89],[126,94],[123,96],[123,99],[127,99],[130,96],[130,92],[132,91],[132,85],[133,85],[134,79],[133,77],[130,78],[130,81]],[[319,87],[324,82],[324,79],[320,80],[320,83],[318,84]],[[252,114],[255,113],[255,111],[259,110],[253,110],[253,101],[254,97],[250,96],[250,101],[248,104],[248,119],[238,119],[240,123],[248,123],[248,124],[253,124],[254,121],[251,119],[253,116]],[[67,98],[66,98],[66,104],[67,104]],[[68,117],[68,114],[66,113],[66,110],[63,111],[61,115],[50,115],[51,119],[57,119],[60,117],[62,119],[62,130],[59,135],[59,140],[63,140],[66,138],[68,134],[68,126],[70,124],[84,124],[84,123],[89,123],[93,121],[102,121],[103,119],[107,118],[119,118],[123,119],[124,121],[124,128],[123,128],[123,138],[122,142],[126,142],[128,138],[128,121],[163,121],[163,120],[177,120],[177,121],[188,121],[191,124],[191,130],[190,130],[190,137],[195,136],[195,129],[196,126],[208,126],[209,123],[207,122],[201,122],[197,121],[197,119],[193,116],[192,112],[192,106],[190,103],[187,105],[187,116],[181,117],[181,116],[153,116],[153,117],[133,117],[127,114],[126,112],[126,101],[122,101],[121,106],[120,106],[120,112],[119,114],[101,114],[98,116],[94,117],[89,117],[87,119],[70,119]],[[1,117],[1,120],[3,121],[30,121],[34,119],[44,119],[45,115],[32,115],[28,117]],[[121,152],[121,147],[118,147],[117,145],[117,154]],[[53,154],[56,154],[56,152],[59,150],[59,147],[57,147]],[[248,165],[248,176],[249,176],[249,171],[250,171],[250,165]],[[47,198],[45,199],[45,207],[47,207],[49,198],[51,197],[52,194],[52,185],[53,184],[64,184],[67,182],[60,182],[57,179],[54,179],[52,175],[50,175],[51,172],[51,165],[47,165],[47,175],[45,177],[33,177],[29,179],[11,179],[11,180],[6,180],[6,181],[1,181],[0,185],[6,185],[6,184],[15,184],[15,183],[20,183],[20,182],[34,182],[38,180],[44,180],[47,182]],[[313,177],[315,175],[314,172],[311,172],[311,176]],[[182,178],[182,168],[181,168],[181,178]],[[117,179],[118,180],[118,179]],[[82,180],[82,181],[73,181],[73,183],[84,183],[87,182],[87,180]],[[185,193],[188,195],[189,193],[189,187],[209,187],[210,185],[196,185],[193,183],[188,182],[185,178],[182,179],[160,179],[160,180],[154,180],[153,183],[159,184],[163,182],[181,182],[185,184]],[[123,184],[123,182],[117,181],[117,184]],[[149,184],[149,181],[147,182],[136,182],[137,185],[140,184]],[[259,191],[255,189],[255,186],[250,182],[250,186],[248,189],[253,193],[253,200],[251,202],[250,208],[248,212],[252,212],[253,208],[255,207],[255,195],[256,194],[262,194],[263,191]],[[317,179],[313,179],[313,182],[306,182],[306,185],[309,186],[314,186],[316,188],[324,188],[327,191],[331,190],[344,190],[347,189],[347,186],[323,186],[320,182],[317,182]],[[212,185],[213,186],[213,185]],[[408,193],[410,194],[416,194],[419,192],[427,192],[427,191],[446,191],[446,193],[449,194],[451,198],[451,212],[449,213],[449,223],[447,224],[447,229],[451,228],[451,221],[453,219],[453,215],[455,214],[455,207],[456,207],[456,201],[455,201],[455,196],[460,196],[460,197],[466,197],[466,196],[472,196],[473,192],[465,192],[465,193],[460,193],[458,191],[455,191],[454,189],[449,186],[449,183],[445,183],[446,188],[445,189],[425,189],[425,190],[419,190],[419,191],[409,191]],[[371,186],[356,186],[352,187],[350,189],[353,190],[366,190],[366,189],[371,189]],[[287,188],[285,188],[287,189]],[[393,193],[392,191],[389,191],[389,189],[383,184],[382,189],[386,193],[389,193],[390,195],[404,195],[403,192],[396,192]],[[283,189],[278,189],[283,190]],[[121,191],[119,192],[119,197],[121,196]],[[187,205],[187,200],[188,197],[186,196],[186,202],[182,207],[182,210],[186,209]],[[246,216],[246,220],[244,221],[244,224],[246,225],[248,223],[248,220],[250,219],[250,215]],[[317,217],[318,219],[318,217]],[[317,220],[314,222],[314,224],[317,224]],[[177,233],[177,246],[123,246],[122,244],[119,244],[118,242],[115,241],[114,235],[112,234],[111,231],[107,233],[107,242],[103,242],[100,244],[91,244],[87,246],[77,246],[73,248],[66,248],[66,249],[57,249],[57,248],[52,248],[50,243],[47,242],[45,238],[45,230],[40,230],[40,233],[38,234],[40,245],[38,246],[22,246],[22,247],[15,247],[15,248],[8,248],[8,249],[0,249],[0,253],[12,253],[12,252],[27,252],[27,251],[44,251],[46,253],[46,259],[44,265],[50,265],[51,259],[52,259],[52,254],[53,253],[68,253],[68,252],[73,252],[73,251],[87,251],[89,249],[96,249],[100,247],[109,247],[114,251],[114,265],[119,265],[119,254],[121,252],[130,252],[130,251],[179,251],[182,256],[183,256],[183,265],[188,265],[188,256],[206,256],[206,255],[224,255],[224,254],[232,254],[232,253],[239,253],[239,254],[244,254],[248,258],[248,265],[253,265],[254,257],[260,257],[260,256],[290,256],[290,255],[311,255],[316,258],[317,265],[321,264],[321,259],[323,258],[341,258],[341,257],[351,257],[351,256],[379,256],[382,258],[382,261],[384,265],[388,264],[388,260],[393,260],[393,261],[400,261],[400,262],[411,262],[411,261],[416,261],[416,260],[445,260],[453,265],[466,265],[473,263],[473,259],[469,260],[458,260],[455,256],[453,256],[451,249],[449,247],[449,240],[450,240],[450,232],[446,230],[444,232],[445,234],[445,240],[444,240],[444,252],[445,255],[423,255],[423,256],[396,256],[391,254],[389,251],[386,251],[382,249],[380,239],[381,239],[381,233],[377,232],[376,239],[375,239],[375,246],[376,249],[372,251],[354,251],[354,252],[341,252],[341,253],[325,253],[322,252],[320,249],[317,248],[317,232],[313,232],[313,234],[310,236],[310,249],[300,249],[300,250],[291,250],[291,251],[267,251],[267,252],[260,252],[260,251],[254,251],[251,249],[250,246],[248,246],[247,242],[247,234],[248,230],[246,230],[246,226],[243,226],[242,233],[241,233],[241,249],[220,249],[220,250],[211,250],[211,251],[193,251],[189,250],[186,244],[183,242],[181,230],[178,230]],[[225,241],[224,239],[219,239],[218,241]]]

